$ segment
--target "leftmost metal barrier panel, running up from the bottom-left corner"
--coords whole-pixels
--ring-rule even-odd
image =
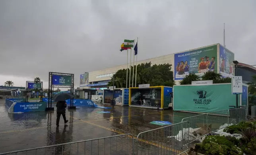
[[[0,153],[0,155],[133,155],[134,137],[121,134],[91,140],[70,142],[32,149]]]

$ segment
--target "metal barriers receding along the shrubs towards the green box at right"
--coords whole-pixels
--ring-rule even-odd
[[[246,121],[246,111],[247,108],[235,108],[182,119],[182,122],[188,122],[188,129],[186,133],[183,134],[183,139],[188,141],[184,146],[186,147],[186,151],[195,144],[196,141],[202,141],[202,138],[207,134]]]

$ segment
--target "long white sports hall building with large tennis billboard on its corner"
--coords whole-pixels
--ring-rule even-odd
[[[196,49],[163,55],[151,59],[138,61],[138,64],[151,62],[151,64],[172,64],[176,85],[187,74],[195,72],[199,76],[208,70],[215,70],[223,77],[235,75],[235,55],[223,45],[216,43]],[[250,82],[251,76],[256,74],[256,68],[248,64],[238,64],[238,75],[243,77],[243,83]],[[105,68],[93,72],[85,72],[80,75],[80,89],[104,89],[115,72],[126,69],[127,64]]]

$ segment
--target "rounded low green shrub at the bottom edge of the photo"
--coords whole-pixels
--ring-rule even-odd
[[[196,147],[199,147],[199,152],[207,155],[243,155],[242,149],[234,144],[239,144],[239,142],[230,137],[208,136],[202,144],[197,144]]]

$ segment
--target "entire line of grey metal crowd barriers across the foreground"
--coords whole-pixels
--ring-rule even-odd
[[[254,107],[254,112],[256,106]],[[255,114],[255,113],[254,113]],[[210,112],[182,122],[140,132],[137,138],[122,134],[79,142],[23,149],[0,155],[180,155],[210,132],[246,121],[247,108]]]

